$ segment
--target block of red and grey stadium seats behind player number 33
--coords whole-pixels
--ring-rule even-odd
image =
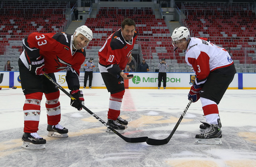
[[[0,10],[0,70],[8,60],[18,70],[17,60],[22,52],[22,39],[32,32],[63,31],[68,24],[65,12],[69,2],[13,1],[3,2]],[[5,56],[2,56],[5,55]]]

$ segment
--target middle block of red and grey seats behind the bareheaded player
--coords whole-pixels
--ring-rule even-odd
[[[178,63],[184,63],[184,54],[174,53],[174,48],[170,41],[170,32],[164,19],[156,19],[152,8],[100,8],[96,18],[88,18],[86,25],[93,32],[96,40],[89,43],[87,49],[97,52],[105,41],[105,38],[117,31],[121,27],[121,21],[132,18],[136,23],[138,38],[136,45],[140,48],[140,55],[144,59],[159,63],[159,59],[176,59]],[[88,50],[90,52],[90,50]],[[90,52],[91,53],[91,52]],[[180,55],[181,53],[181,55]],[[153,69],[154,70],[154,69]]]

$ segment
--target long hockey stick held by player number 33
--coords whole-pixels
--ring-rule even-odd
[[[72,100],[75,100],[75,98],[67,92],[65,89],[63,89],[56,81],[54,81],[48,74],[44,73],[44,75],[56,86],[58,87],[62,92],[64,92],[66,95],[68,95]],[[116,131],[113,127],[107,125],[105,121],[103,121],[101,118],[99,118],[97,115],[95,115],[90,109],[88,109],[86,106],[82,107],[85,109],[89,114],[91,114],[94,118],[96,118],[99,122],[101,122],[103,125],[108,127],[110,130],[112,130],[114,133],[116,133],[119,137],[121,137],[125,142],[128,143],[141,143],[141,142],[146,142],[148,137],[125,137],[121,135],[118,131]]]

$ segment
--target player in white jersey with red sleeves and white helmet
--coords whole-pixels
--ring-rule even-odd
[[[201,99],[206,119],[200,125],[202,133],[196,135],[196,142],[221,144],[222,125],[217,104],[236,73],[233,61],[224,48],[210,43],[207,39],[191,38],[184,26],[174,30],[172,40],[175,47],[184,50],[186,63],[196,74],[188,100],[196,102]],[[210,138],[214,138],[213,142]]]

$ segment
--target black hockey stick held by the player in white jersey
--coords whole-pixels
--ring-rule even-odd
[[[178,126],[180,125],[181,120],[183,119],[183,117],[185,116],[187,109],[189,108],[190,104],[191,104],[192,100],[190,100],[186,106],[186,108],[184,109],[184,112],[182,113],[182,115],[180,116],[179,121],[176,123],[174,129],[172,132],[170,132],[170,135],[167,138],[164,139],[154,139],[154,138],[147,138],[146,143],[148,145],[153,145],[153,146],[159,146],[159,145],[165,145],[170,141],[170,138],[172,138],[172,136],[174,135],[174,132],[176,131],[176,129],[178,128]]]

